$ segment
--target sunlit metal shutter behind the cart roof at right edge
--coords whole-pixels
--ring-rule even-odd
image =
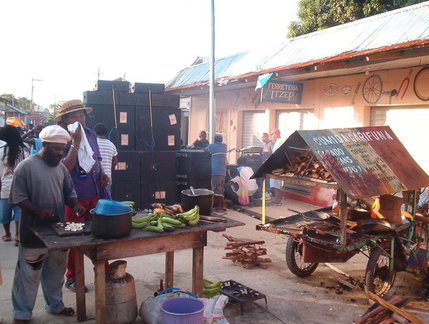
[[[429,173],[429,106],[372,107],[371,126],[388,125],[416,162]]]

